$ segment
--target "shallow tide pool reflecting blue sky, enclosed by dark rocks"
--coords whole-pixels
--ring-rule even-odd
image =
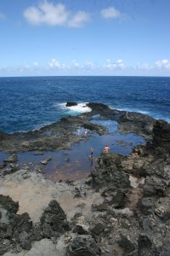
[[[102,153],[106,144],[110,148],[110,152],[126,155],[132,152],[134,146],[144,143],[143,137],[136,136],[133,133],[123,135],[117,132],[117,123],[115,121],[95,120],[96,122],[99,125],[105,125],[111,133],[99,136],[88,131],[87,139],[72,145],[71,150],[46,151],[42,155],[35,154],[35,152],[18,154],[20,167],[27,166],[31,171],[41,171],[45,177],[53,181],[59,179],[77,180],[82,177],[88,177],[88,174],[95,166],[96,159]],[[77,136],[83,134],[84,129],[81,128],[78,132],[76,133]],[[91,148],[94,148],[92,160],[89,157]],[[7,157],[5,154],[1,154],[2,159]],[[41,163],[42,160],[47,160],[49,156],[52,160],[48,160],[47,165],[43,165]]]

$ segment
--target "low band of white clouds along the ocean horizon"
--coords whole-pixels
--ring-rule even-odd
[[[159,76],[159,71],[163,71],[165,74],[169,73],[170,61],[161,60],[156,61],[155,65],[150,66],[147,63],[140,64],[137,63],[135,67],[131,67],[122,61],[122,59],[111,61],[111,59],[106,59],[104,64],[97,64],[93,61],[84,61],[82,65],[76,60],[72,60],[70,63],[60,63],[56,58],[51,59],[46,65],[40,66],[37,61],[29,63],[23,63],[17,67],[0,67],[0,75],[5,73],[6,75],[12,76],[13,73],[18,73],[18,75],[29,73],[41,74],[42,71],[48,72],[52,75],[134,75],[135,72],[143,72],[143,75],[148,75],[149,71]],[[84,73],[85,72],[85,73]]]

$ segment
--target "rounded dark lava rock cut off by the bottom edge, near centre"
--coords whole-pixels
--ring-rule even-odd
[[[101,250],[96,245],[94,238],[89,235],[75,237],[67,247],[68,256],[97,256]]]

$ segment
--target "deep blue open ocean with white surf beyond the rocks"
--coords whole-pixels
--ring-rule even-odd
[[[0,131],[35,130],[86,109],[65,102],[101,102],[170,122],[169,96],[167,77],[0,78]]]

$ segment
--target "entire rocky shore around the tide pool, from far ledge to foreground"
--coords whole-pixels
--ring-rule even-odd
[[[170,125],[104,104],[88,107],[92,112],[39,131],[0,134],[0,150],[70,148],[84,139],[75,136],[78,127],[108,134],[90,122],[94,115],[116,120],[119,132],[136,133],[146,143],[126,156],[101,154],[88,178],[75,182],[52,183],[36,170],[11,167],[0,177],[0,255],[170,254]]]

